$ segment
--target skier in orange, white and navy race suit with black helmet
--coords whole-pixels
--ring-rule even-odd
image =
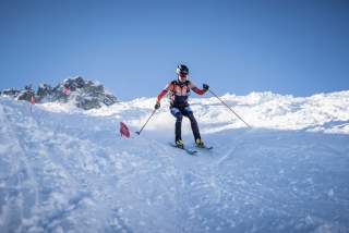
[[[170,91],[170,111],[171,114],[176,118],[176,146],[179,148],[184,148],[184,144],[181,137],[181,127],[182,127],[182,119],[183,115],[189,118],[193,131],[193,135],[195,138],[195,144],[197,147],[204,147],[204,143],[200,136],[200,131],[197,126],[197,122],[194,118],[193,111],[189,106],[188,97],[190,96],[190,89],[198,95],[204,95],[209,86],[207,84],[203,84],[203,89],[197,88],[192,82],[190,82],[186,76],[189,74],[189,69],[184,64],[179,64],[177,66],[177,79],[170,82],[166,87],[159,93],[157,96],[157,101],[155,105],[155,109],[160,108],[161,98]]]

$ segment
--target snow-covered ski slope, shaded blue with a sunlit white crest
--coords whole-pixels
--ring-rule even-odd
[[[191,106],[212,151],[169,147],[155,98],[83,111],[0,98],[0,232],[349,232],[349,91]],[[193,147],[188,120],[183,139]]]

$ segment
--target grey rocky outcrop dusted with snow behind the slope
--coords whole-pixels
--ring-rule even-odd
[[[22,89],[8,88],[0,91],[0,95],[26,101],[31,101],[34,97],[37,103],[72,102],[84,110],[111,106],[118,101],[117,97],[107,91],[104,85],[86,81],[81,76],[67,78],[56,86],[40,84],[36,91],[29,85]]]

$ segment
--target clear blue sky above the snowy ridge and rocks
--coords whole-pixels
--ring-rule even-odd
[[[217,94],[349,89],[349,1],[0,0],[0,89],[82,75],[154,97],[185,63]]]

